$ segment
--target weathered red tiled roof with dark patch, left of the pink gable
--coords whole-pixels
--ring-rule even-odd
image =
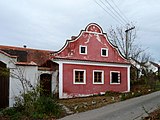
[[[41,66],[47,60],[50,59],[51,54],[54,51],[49,50],[39,50],[31,49],[24,47],[15,47],[15,46],[3,46],[0,45],[0,51],[5,53],[7,56],[16,57],[19,64],[31,65],[30,63],[35,63],[38,66]],[[24,62],[24,63],[22,63]]]

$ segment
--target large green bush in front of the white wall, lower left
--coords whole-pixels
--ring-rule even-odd
[[[25,94],[15,97],[13,108],[2,110],[4,116],[12,120],[23,119],[47,119],[61,115],[61,106],[55,97],[40,96],[39,88],[27,91]]]

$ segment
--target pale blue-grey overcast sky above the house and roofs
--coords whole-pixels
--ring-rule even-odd
[[[135,24],[137,43],[148,48],[147,52],[159,61],[160,0],[107,1],[114,1]],[[0,44],[59,50],[91,22],[99,24],[106,33],[111,26],[124,25],[107,12],[94,0],[1,0]]]

